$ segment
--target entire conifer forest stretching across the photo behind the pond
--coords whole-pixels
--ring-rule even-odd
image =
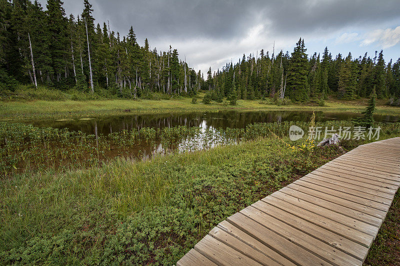
[[[61,0],[0,0],[0,91],[18,84],[82,92],[105,90],[123,98],[148,93],[194,95],[212,91],[213,98],[289,98],[294,102],[320,101],[328,95],[351,100],[377,98],[400,105],[400,58],[387,63],[383,51],[371,58],[307,54],[302,38],[291,53],[282,50],[249,54],[221,69],[204,74],[179,60],[178,51],[141,46],[130,26],[121,36],[108,21],[96,23],[92,5],[83,0],[80,15],[67,16]],[[216,95],[216,96],[215,96]]]

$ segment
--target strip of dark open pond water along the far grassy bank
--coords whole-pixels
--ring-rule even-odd
[[[68,128],[87,134],[107,135],[123,129],[140,129],[142,127],[164,128],[174,126],[208,128],[245,128],[257,122],[309,121],[312,111],[219,111],[191,113],[163,113],[83,118],[75,120],[32,120],[27,123],[37,127]],[[351,112],[315,112],[315,121],[348,120],[358,117]],[[374,115],[378,122],[398,122],[400,117],[391,115]]]

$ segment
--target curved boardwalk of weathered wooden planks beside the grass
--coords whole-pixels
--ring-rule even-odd
[[[361,145],[228,217],[176,266],[362,265],[400,186],[400,137]]]

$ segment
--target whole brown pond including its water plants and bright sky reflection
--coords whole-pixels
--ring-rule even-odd
[[[316,112],[315,121],[332,125],[338,123],[330,123],[331,120],[343,121],[358,115],[350,112]],[[22,152],[8,157],[25,158],[26,154],[30,154],[37,156],[31,160],[41,160],[40,164],[60,166],[68,163],[91,164],[114,157],[145,160],[155,154],[204,150],[271,134],[288,136],[289,128],[294,122],[306,130],[311,116],[311,111],[225,110],[146,115],[124,113],[95,119],[34,120],[27,123],[44,129],[38,130],[41,133],[36,134],[32,133],[36,132],[35,129],[28,130],[28,127],[23,126],[18,128],[15,124],[18,128],[14,132],[15,140],[22,141],[15,149]],[[376,115],[375,120],[386,122],[382,126],[390,128],[395,126],[392,122],[399,121],[399,117]],[[351,125],[347,121],[340,124]],[[51,128],[68,131],[60,132]],[[18,137],[17,133],[22,134],[23,130],[28,130],[25,133],[29,138],[26,139],[32,141],[31,143],[24,143],[25,138]],[[10,152],[13,150],[14,148],[10,149]],[[12,163],[14,162],[11,160],[9,164]]]

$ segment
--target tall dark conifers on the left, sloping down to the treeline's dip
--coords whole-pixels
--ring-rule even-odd
[[[16,83],[43,84],[59,90],[106,89],[124,97],[147,92],[192,93],[203,85],[200,71],[178,59],[176,49],[157,51],[95,24],[92,6],[66,17],[61,0],[0,0],[0,89]]]

